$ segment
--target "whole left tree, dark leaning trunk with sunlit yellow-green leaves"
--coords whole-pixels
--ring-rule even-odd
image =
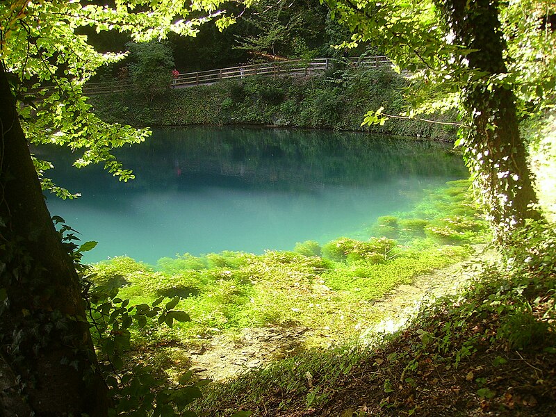
[[[127,32],[140,42],[168,32],[194,35],[210,19],[219,27],[230,21],[218,11],[219,1],[111,5],[0,3],[2,415],[106,416],[111,406],[92,347],[83,288],[44,203],[38,171],[42,175],[49,164],[36,161],[28,145],[83,149],[74,165],[104,163],[125,180],[131,172],[111,149],[145,140],[149,132],[106,124],[91,113],[83,84],[97,68],[123,56],[97,53],[78,29]],[[43,186],[70,197],[49,181]]]

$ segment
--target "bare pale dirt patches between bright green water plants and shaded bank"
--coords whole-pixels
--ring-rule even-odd
[[[377,332],[391,332],[403,325],[426,300],[448,293],[476,275],[477,260],[495,259],[496,254],[485,252],[484,245],[474,247],[470,261],[455,263],[448,268],[436,270],[430,275],[418,277],[413,284],[400,285],[384,300],[371,307],[384,320],[362,334],[370,340]],[[214,334],[202,347],[188,352],[191,370],[198,377],[214,380],[227,379],[261,366],[273,359],[282,359],[295,354],[313,333],[308,327],[258,327],[242,329],[240,334]]]

